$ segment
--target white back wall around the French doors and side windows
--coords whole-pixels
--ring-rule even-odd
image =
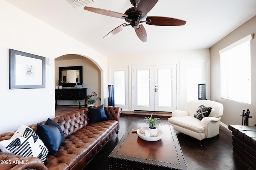
[[[208,92],[206,93],[208,99],[210,100],[210,78],[209,78],[209,70],[210,70],[210,52],[209,49],[199,49],[199,50],[191,50],[191,51],[170,51],[168,53],[150,53],[150,54],[142,54],[142,55],[134,55],[134,56],[113,56],[108,57],[108,65],[110,70],[116,66],[124,66],[129,67],[130,74],[132,75],[132,66],[141,66],[141,65],[164,65],[164,64],[177,64],[177,88],[178,88],[178,109],[184,109],[186,105],[186,90],[184,88],[184,84],[186,81],[186,69],[189,66],[194,66],[195,63],[205,63],[207,73],[206,76],[206,88],[208,88]],[[109,76],[111,77],[111,76]],[[112,80],[109,80],[111,83]],[[132,84],[132,76],[129,76],[129,84]],[[130,89],[129,101],[132,101],[132,89]],[[196,89],[197,90],[197,89]],[[132,103],[132,102],[131,102]],[[130,107],[131,108],[131,107]]]

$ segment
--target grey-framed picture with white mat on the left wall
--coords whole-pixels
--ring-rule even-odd
[[[45,88],[45,57],[9,49],[9,89]]]

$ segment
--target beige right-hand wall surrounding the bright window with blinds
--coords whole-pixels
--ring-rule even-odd
[[[211,97],[212,100],[220,102],[224,106],[224,113],[221,118],[222,123],[226,125],[241,125],[243,110],[250,109],[249,125],[256,124],[256,16],[232,31],[226,37],[221,39],[218,43],[210,48],[210,61],[211,61]],[[220,55],[219,51],[224,47],[246,37],[253,33],[254,39],[251,40],[251,93],[252,104],[244,104],[225,100],[220,98]],[[241,66],[245,67],[245,66]],[[238,89],[243,90],[243,89]]]

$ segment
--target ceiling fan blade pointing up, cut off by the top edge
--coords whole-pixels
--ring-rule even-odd
[[[142,12],[142,16],[146,16],[157,2],[158,0],[140,0],[135,12]]]

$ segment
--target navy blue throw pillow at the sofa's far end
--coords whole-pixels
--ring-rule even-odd
[[[89,118],[90,118],[90,123],[96,123],[98,121],[104,121],[108,120],[104,105],[101,105],[98,107],[98,109],[95,109],[93,107],[88,107],[88,112],[89,112]]]

